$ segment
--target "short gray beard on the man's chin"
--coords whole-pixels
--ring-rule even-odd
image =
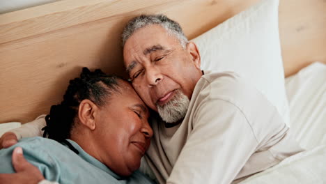
[[[185,118],[187,109],[189,107],[189,102],[190,100],[188,99],[187,95],[185,95],[182,91],[177,90],[176,95],[174,95],[169,102],[162,106],[157,104],[156,107],[163,121],[166,123],[176,123]]]

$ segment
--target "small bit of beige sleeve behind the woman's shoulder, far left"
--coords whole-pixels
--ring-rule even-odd
[[[42,114],[38,116],[34,121],[24,123],[20,128],[15,128],[10,130],[10,132],[15,133],[18,140],[24,137],[42,136],[42,128],[46,126],[45,116],[45,114]]]

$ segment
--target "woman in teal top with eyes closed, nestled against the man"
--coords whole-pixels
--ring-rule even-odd
[[[15,172],[11,154],[22,147],[48,181],[153,183],[137,171],[153,135],[148,116],[128,82],[83,68],[46,117],[49,139],[26,138],[0,150],[0,173]]]

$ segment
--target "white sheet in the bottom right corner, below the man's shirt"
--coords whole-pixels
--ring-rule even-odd
[[[286,158],[276,166],[242,181],[242,184],[247,183],[326,183],[326,146]]]

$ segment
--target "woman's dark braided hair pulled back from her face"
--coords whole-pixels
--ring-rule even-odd
[[[42,129],[45,130],[43,137],[67,143],[65,139],[70,138],[80,102],[88,99],[95,105],[104,105],[112,92],[119,92],[118,79],[122,78],[106,75],[100,69],[91,72],[83,68],[79,78],[70,80],[63,101],[59,105],[52,105],[49,115],[45,117],[47,126]]]

